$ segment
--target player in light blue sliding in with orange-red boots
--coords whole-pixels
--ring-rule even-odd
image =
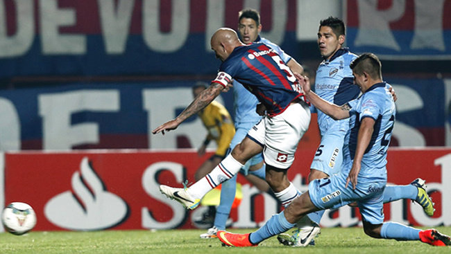
[[[303,216],[316,210],[339,208],[357,201],[367,235],[399,241],[419,240],[434,246],[451,246],[451,239],[435,229],[420,230],[394,222],[384,223],[383,192],[386,188],[386,151],[395,123],[395,103],[382,81],[381,64],[372,53],[357,57],[351,64],[359,98],[343,106],[321,99],[310,90],[309,80],[296,74],[307,100],[334,119],[350,118],[346,135],[343,170],[309,183],[309,190],[296,198],[262,228],[250,234],[219,231],[229,246],[256,246],[264,239],[295,226]]]

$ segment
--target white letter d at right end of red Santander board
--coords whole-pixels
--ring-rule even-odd
[[[441,183],[427,183],[427,191],[441,192],[441,216],[437,218],[427,217],[425,212],[423,212],[423,208],[414,204],[410,205],[410,211],[418,224],[451,226],[451,200],[448,196],[451,193],[451,154],[436,158],[434,165],[440,165]],[[436,200],[435,202],[439,201]]]

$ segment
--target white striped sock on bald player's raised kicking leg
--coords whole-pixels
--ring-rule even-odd
[[[207,192],[214,189],[217,185],[235,176],[241,167],[244,167],[244,165],[235,160],[232,154],[229,154],[219,165],[214,167],[210,174],[189,186],[188,193],[195,199],[202,199]]]

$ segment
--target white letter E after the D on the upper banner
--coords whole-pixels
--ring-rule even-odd
[[[85,35],[61,35],[60,26],[76,24],[74,10],[58,9],[58,0],[40,0],[42,51],[48,55],[86,53]]]

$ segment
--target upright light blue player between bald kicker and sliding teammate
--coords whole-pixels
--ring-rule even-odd
[[[319,97],[336,105],[359,96],[359,87],[353,84],[350,62],[357,58],[348,48],[343,48],[346,39],[346,27],[341,19],[328,17],[320,21],[318,29],[318,48],[323,57],[316,71],[314,91]],[[316,111],[315,109],[312,110]],[[349,131],[349,118],[334,120],[327,114],[318,111],[318,126],[321,134],[321,144],[316,150],[309,174],[309,182],[339,173],[343,161],[344,137]],[[387,186],[384,203],[398,199],[412,199],[423,206],[426,214],[434,214],[434,205],[425,191],[425,181],[416,179],[409,185]],[[309,215],[319,225],[324,210]],[[319,228],[303,226],[294,230],[293,235],[282,234],[278,240],[284,245],[305,246],[305,237],[312,237],[310,232]]]

